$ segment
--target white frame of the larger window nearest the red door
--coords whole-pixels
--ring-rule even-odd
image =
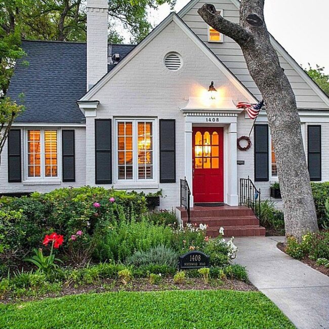
[[[119,179],[118,175],[118,122],[133,122],[133,179]],[[139,179],[138,178],[138,122],[151,122],[152,123],[152,142],[153,142],[153,178],[152,179]],[[140,117],[125,117],[125,118],[115,118],[114,119],[114,183],[115,185],[127,185],[129,184],[154,184],[157,182],[157,120],[155,118],[140,118]]]

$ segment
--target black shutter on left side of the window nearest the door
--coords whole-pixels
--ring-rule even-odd
[[[112,120],[95,120],[96,184],[112,184]]]

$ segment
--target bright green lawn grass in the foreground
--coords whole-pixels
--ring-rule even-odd
[[[0,305],[0,328],[295,328],[262,293],[85,294]]]

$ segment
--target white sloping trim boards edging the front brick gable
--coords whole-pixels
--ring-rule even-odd
[[[142,40],[128,55],[119,62],[117,66],[108,72],[98,83],[93,86],[87,94],[79,101],[90,101],[94,95],[102,89],[102,87],[113,78],[122,68],[124,68],[140,51],[142,51],[163,29],[165,29],[171,22],[175,22],[181,30],[195,43],[195,45],[222,71],[222,73],[230,80],[236,89],[250,102],[255,102],[256,98],[240,83],[234,74],[206,47],[201,40],[188,28],[188,26],[177,16],[171,13],[165,20],[163,20],[146,38]]]

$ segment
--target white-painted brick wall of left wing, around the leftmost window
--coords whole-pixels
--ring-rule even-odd
[[[37,129],[37,128],[36,128]],[[54,185],[50,184],[49,181],[42,182],[40,184],[33,183],[35,185],[31,185],[28,182],[22,183],[8,183],[8,150],[7,143],[4,147],[2,156],[1,156],[1,166],[0,166],[0,193],[22,193],[22,192],[49,192],[51,190],[61,188],[61,187],[69,187],[69,186],[83,186],[86,184],[86,130],[84,127],[75,127],[69,128],[65,127],[65,129],[74,129],[75,130],[75,182],[56,182]],[[24,134],[21,135],[22,139]],[[61,139],[61,137],[60,137]],[[24,143],[22,141],[22,154],[24,151]],[[22,156],[23,159],[23,156]],[[59,157],[59,163],[61,166],[62,160]],[[23,161],[22,161],[23,168]],[[22,169],[22,178],[23,169]]]

